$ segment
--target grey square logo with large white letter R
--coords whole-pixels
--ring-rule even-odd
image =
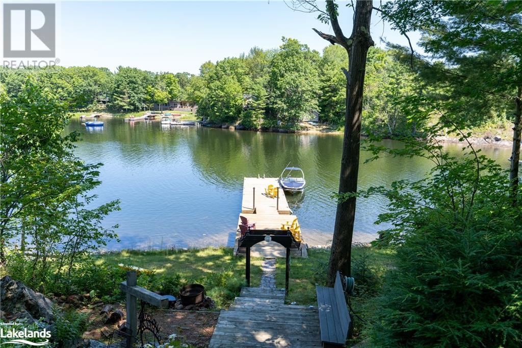
[[[4,57],[55,56],[55,4],[4,4],[3,13]]]

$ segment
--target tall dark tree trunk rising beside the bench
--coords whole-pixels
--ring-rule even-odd
[[[353,30],[348,40],[349,62],[346,74],[346,119],[345,136],[342,144],[339,194],[357,192],[366,54],[373,45],[370,36],[372,5],[372,1],[357,2],[357,5],[355,5]],[[339,201],[328,266],[329,286],[334,286],[337,271],[347,276],[351,275],[350,263],[354,220],[355,197]]]

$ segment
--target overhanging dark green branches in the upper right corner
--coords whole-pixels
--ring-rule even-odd
[[[428,59],[412,59],[409,49],[403,59],[435,87],[426,95],[446,100],[452,114],[465,114],[467,127],[511,118],[522,80],[522,3],[414,0],[382,9],[392,27],[422,33],[419,45]]]

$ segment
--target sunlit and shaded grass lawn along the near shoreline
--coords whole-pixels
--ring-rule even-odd
[[[309,258],[292,258],[287,302],[316,305],[315,285],[325,285],[330,251],[310,249]],[[231,248],[204,248],[188,250],[121,251],[100,256],[110,264],[124,263],[156,271],[156,275],[181,277],[181,284],[200,283],[220,307],[228,307],[234,296],[245,286],[245,258],[234,257]],[[375,248],[354,248],[352,253],[355,286],[359,285],[357,272],[368,272],[382,277],[389,268],[392,254]],[[262,259],[252,258],[251,286],[259,286]],[[364,268],[364,270],[361,270]],[[153,289],[154,280],[151,283]],[[284,259],[277,259],[276,286],[284,287]],[[175,295],[175,294],[174,294]]]

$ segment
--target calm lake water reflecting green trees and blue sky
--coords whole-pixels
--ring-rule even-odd
[[[73,119],[83,141],[77,155],[87,163],[101,162],[102,184],[96,203],[121,200],[121,211],[104,224],[119,224],[121,242],[108,249],[200,247],[227,245],[235,233],[241,208],[243,177],[277,177],[289,161],[303,168],[306,189],[287,196],[299,216],[310,245],[331,240],[336,204],[342,136],[231,131],[205,127],[162,127],[159,122],[103,119],[103,128],[86,128]],[[387,146],[398,146],[386,141]],[[448,144],[458,152],[461,145]],[[483,153],[506,168],[509,148],[483,146]],[[417,180],[430,169],[428,160],[381,158],[369,164],[362,153],[359,188]],[[374,225],[386,211],[380,197],[359,199],[354,240],[369,241],[386,226]],[[233,234],[232,234],[233,235]]]

